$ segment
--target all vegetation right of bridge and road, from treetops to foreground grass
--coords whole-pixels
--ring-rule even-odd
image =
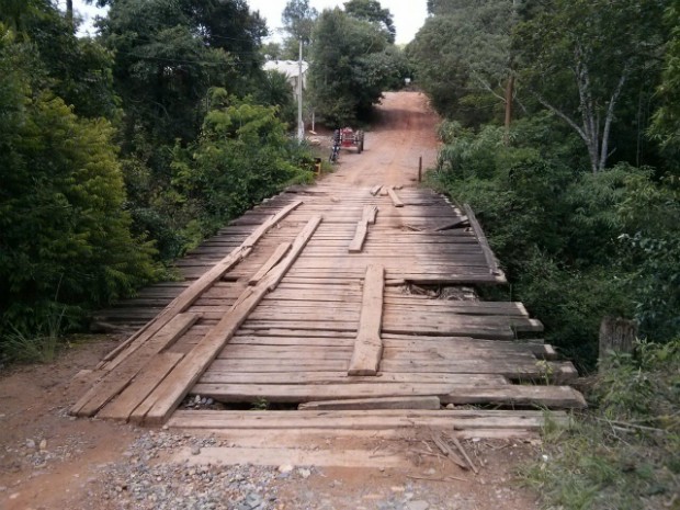
[[[429,183],[480,219],[510,281],[491,297],[524,302],[585,375],[604,317],[638,328],[523,477],[545,508],[678,508],[678,2],[428,5],[406,52],[444,118]]]

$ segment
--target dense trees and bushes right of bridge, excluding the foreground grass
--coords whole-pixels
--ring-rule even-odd
[[[431,181],[477,212],[511,282],[503,297],[525,302],[583,369],[605,316],[677,337],[673,2],[429,8],[407,53],[447,117]]]

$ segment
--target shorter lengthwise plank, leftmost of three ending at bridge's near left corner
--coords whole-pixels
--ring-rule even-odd
[[[69,410],[71,415],[91,417],[113,397],[121,393],[149,362],[149,360],[171,345],[199,320],[196,314],[179,314],[172,317],[156,335],[137,349],[134,358],[105,372]]]

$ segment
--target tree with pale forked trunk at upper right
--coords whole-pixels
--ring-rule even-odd
[[[658,70],[664,0],[551,0],[514,42],[524,83],[607,167],[619,102],[633,79]]]

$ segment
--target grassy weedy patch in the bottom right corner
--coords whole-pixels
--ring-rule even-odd
[[[543,508],[680,510],[680,340],[614,358],[569,431],[546,430],[521,478]]]

